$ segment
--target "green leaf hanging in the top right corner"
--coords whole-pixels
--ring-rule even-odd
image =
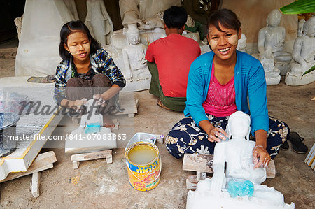
[[[303,13],[314,13],[315,12],[315,1],[314,0],[297,0],[286,6],[280,8],[283,14],[303,14]]]

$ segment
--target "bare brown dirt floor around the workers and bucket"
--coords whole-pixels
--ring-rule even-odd
[[[13,44],[2,46],[12,48]],[[1,48],[1,46],[0,46]],[[0,78],[14,75],[14,52],[0,49]],[[9,51],[9,52],[8,52]],[[14,50],[13,50],[14,51]],[[169,129],[183,117],[156,105],[156,97],[148,90],[136,92],[139,99],[137,115],[130,119],[118,117],[120,130],[126,127],[135,132],[167,135]],[[267,87],[269,115],[285,121],[291,131],[304,137],[311,148],[315,143],[315,82],[290,87],[282,78],[279,85]],[[65,134],[76,128],[69,117],[64,117],[53,134]],[[130,130],[129,129],[129,130]],[[128,134],[128,137],[130,133]],[[73,169],[71,154],[62,149],[64,142],[49,142],[41,152],[53,150],[57,156],[54,168],[41,175],[41,196],[31,195],[31,175],[1,184],[1,208],[185,208],[186,176],[193,172],[182,170],[182,159],[174,159],[157,144],[162,156],[160,184],[150,192],[132,189],[128,182],[125,150],[113,150],[113,164],[105,159],[83,161]],[[127,141],[119,142],[124,147]],[[59,147],[59,148],[58,148]],[[296,208],[315,208],[315,173],[304,159],[307,154],[281,150],[275,158],[276,178],[263,184],[281,192],[286,203],[294,202]]]

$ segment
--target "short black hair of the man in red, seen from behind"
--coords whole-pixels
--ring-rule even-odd
[[[168,28],[181,29],[187,22],[186,10],[179,6],[171,6],[165,10],[163,20]]]

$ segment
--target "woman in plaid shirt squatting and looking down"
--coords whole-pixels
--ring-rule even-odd
[[[59,106],[78,111],[94,98],[97,105],[104,107],[126,85],[123,73],[83,22],[71,21],[62,26],[59,55],[62,62],[56,70],[54,95]],[[99,113],[102,110],[99,108]]]

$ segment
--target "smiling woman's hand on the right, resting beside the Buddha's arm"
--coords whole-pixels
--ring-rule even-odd
[[[253,148],[253,164],[255,166],[253,168],[267,168],[270,159],[271,157],[264,146],[255,145]]]

